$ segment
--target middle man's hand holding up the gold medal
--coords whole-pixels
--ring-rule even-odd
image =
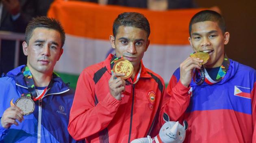
[[[121,92],[125,91],[125,81],[120,76],[125,76],[125,74],[113,73],[108,80],[110,94],[117,100],[121,100]]]

